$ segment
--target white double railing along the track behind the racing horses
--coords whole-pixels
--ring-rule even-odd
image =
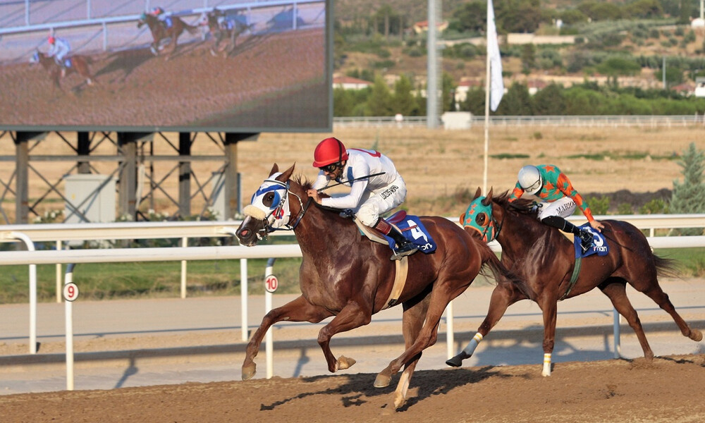
[[[596,216],[601,219],[604,216]],[[615,218],[618,216],[609,216]],[[622,217],[622,216],[619,216]],[[626,216],[640,229],[654,228],[690,228],[705,227],[705,214],[697,215],[643,215]],[[637,218],[637,219],[635,219]],[[451,219],[455,220],[455,219]],[[624,219],[628,220],[628,219]],[[27,264],[30,266],[30,354],[36,350],[36,265],[37,264],[70,264],[67,270],[67,281],[73,278],[73,264],[79,263],[109,263],[109,262],[161,262],[186,260],[215,260],[215,259],[240,259],[245,262],[240,266],[241,287],[243,295],[243,310],[247,310],[247,259],[266,259],[272,257],[302,257],[300,247],[291,245],[258,245],[255,247],[226,246],[226,247],[159,247],[159,248],[118,248],[118,249],[84,249],[84,250],[41,250],[34,249],[33,242],[52,240],[85,240],[85,239],[137,239],[137,238],[183,238],[189,236],[204,237],[233,235],[239,222],[147,222],[147,223],[86,223],[78,225],[16,225],[6,226],[0,231],[0,242],[16,242],[22,240],[27,245],[27,251],[9,251],[0,255],[1,265]],[[20,231],[23,229],[24,232]],[[177,232],[176,230],[182,231]],[[27,233],[32,233],[33,237]],[[209,235],[207,235],[209,234]],[[176,237],[174,236],[176,235]],[[106,238],[109,237],[109,238]],[[647,237],[652,247],[678,248],[678,247],[705,247],[705,235],[682,237]],[[185,245],[185,244],[184,244]],[[243,273],[243,267],[245,271]],[[32,269],[35,269],[32,271]],[[185,269],[185,267],[183,267]],[[271,274],[271,265],[267,266],[266,273]],[[266,276],[266,275],[265,275]],[[34,279],[32,281],[32,279]],[[185,281],[185,278],[182,278]],[[32,294],[32,290],[35,291]],[[182,290],[185,293],[185,290]],[[71,305],[67,305],[67,313],[71,312]],[[271,307],[271,305],[269,305]],[[267,312],[269,310],[266,310]],[[68,329],[70,324],[67,315],[67,337],[73,330]],[[242,314],[243,341],[247,341],[247,315]],[[447,340],[448,357],[453,356],[453,307],[452,302],[446,309],[446,322],[448,324]],[[615,313],[614,324],[615,357],[618,357],[619,325],[618,314]],[[270,343],[269,336],[266,342]],[[67,372],[71,368],[73,373],[73,351],[68,352],[68,345],[73,345],[73,339],[66,341],[67,345]],[[266,348],[271,354],[271,347]],[[69,358],[71,356],[71,358]],[[68,362],[71,360],[71,363]],[[271,360],[267,360],[268,366]],[[271,369],[268,369],[268,375]],[[68,386],[71,381],[71,386]],[[67,388],[73,389],[73,374],[67,374]]]

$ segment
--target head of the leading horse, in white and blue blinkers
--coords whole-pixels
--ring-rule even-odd
[[[301,195],[290,190],[293,171],[293,165],[283,172],[279,172],[276,163],[272,166],[269,178],[252,195],[252,204],[243,210],[245,220],[237,231],[240,243],[252,246],[271,231],[290,227],[289,197],[297,197],[302,208]]]

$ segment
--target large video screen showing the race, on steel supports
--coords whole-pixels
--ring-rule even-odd
[[[0,129],[332,126],[331,0],[0,2]]]

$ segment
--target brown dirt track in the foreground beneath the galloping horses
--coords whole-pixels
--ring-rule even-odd
[[[0,396],[3,422],[704,422],[703,355]]]

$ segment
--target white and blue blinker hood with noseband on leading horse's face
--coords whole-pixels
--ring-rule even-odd
[[[266,220],[272,228],[281,228],[289,222],[289,187],[285,182],[276,180],[281,173],[274,173],[264,180],[252,195],[252,204],[245,207],[245,215],[257,220]]]

